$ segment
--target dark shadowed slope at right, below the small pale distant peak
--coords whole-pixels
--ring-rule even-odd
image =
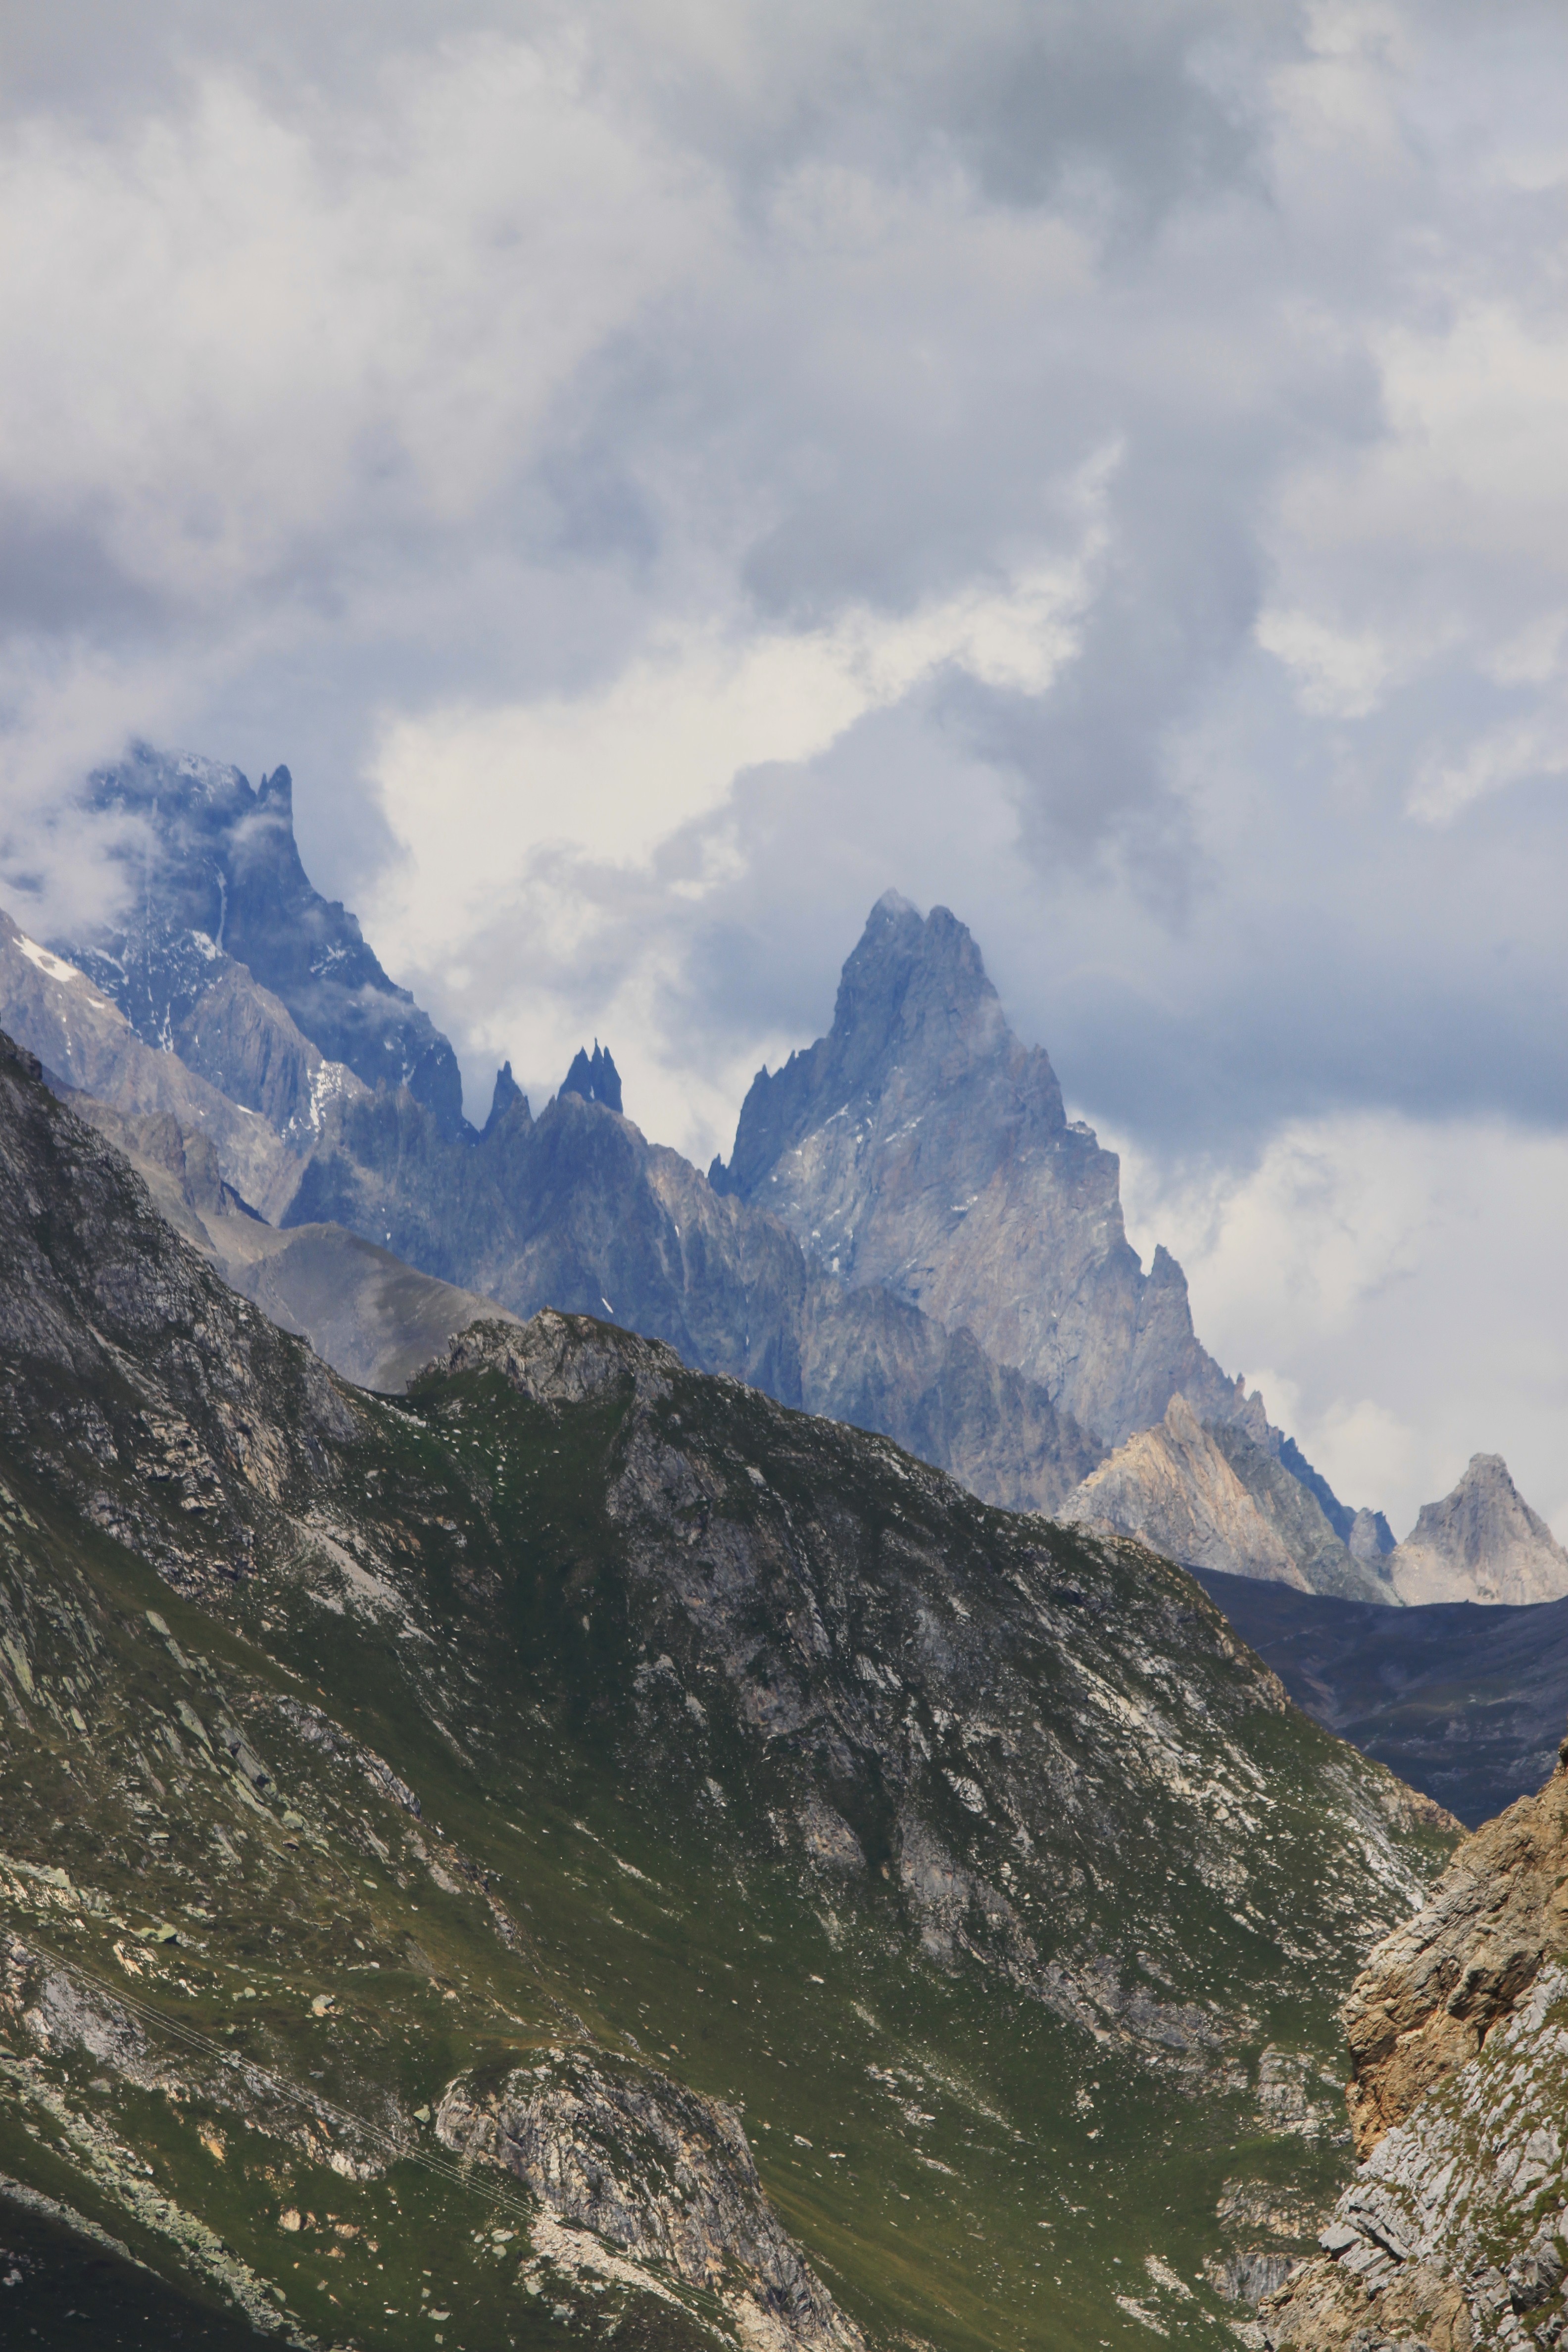
[[[1552,1771],[1568,1599],[1385,1609],[1213,1569],[1197,1576],[1298,1708],[1472,1830]]]

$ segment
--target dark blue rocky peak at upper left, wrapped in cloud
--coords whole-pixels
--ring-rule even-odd
[[[252,788],[237,767],[136,746],[87,790],[94,809],[132,821],[134,887],[118,924],[59,950],[148,1044],[176,1051],[202,997],[244,964],[327,1061],[367,1087],[409,1087],[442,1134],[461,1131],[456,1054],[301,866],[287,767]]]

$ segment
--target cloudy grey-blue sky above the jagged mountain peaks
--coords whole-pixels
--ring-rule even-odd
[[[726,1145],[889,884],[1403,1534],[1568,1534],[1568,16],[7,9],[0,793],[287,760],[484,1112]],[[61,854],[61,840],[68,849]]]

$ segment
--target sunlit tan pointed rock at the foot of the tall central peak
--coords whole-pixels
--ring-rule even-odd
[[[1394,1602],[1380,1552],[1352,1555],[1267,1446],[1234,1423],[1204,1428],[1182,1395],[1070,1496],[1065,1519],[1105,1522],[1190,1569],[1225,1569],[1300,1592]]]

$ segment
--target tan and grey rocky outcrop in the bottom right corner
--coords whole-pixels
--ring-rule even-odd
[[[1568,2331],[1568,1743],[1345,2004],[1361,2169],[1262,2307],[1269,2347],[1556,2345]]]

